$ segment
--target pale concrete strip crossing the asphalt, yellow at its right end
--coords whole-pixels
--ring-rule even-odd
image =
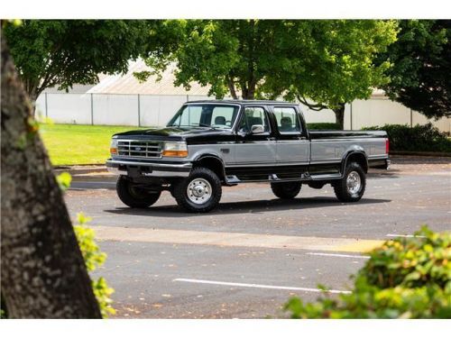
[[[161,242],[215,245],[224,247],[272,248],[284,250],[366,252],[383,241],[356,238],[303,237],[262,233],[216,233],[191,230],[152,229],[119,226],[93,226],[104,241]]]

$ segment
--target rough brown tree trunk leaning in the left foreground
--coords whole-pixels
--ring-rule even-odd
[[[100,318],[32,106],[1,37],[1,293],[12,318]]]

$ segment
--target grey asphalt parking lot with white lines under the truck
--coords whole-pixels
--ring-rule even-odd
[[[291,296],[308,301],[318,284],[347,292],[365,251],[421,224],[451,230],[451,159],[392,158],[369,173],[364,198],[336,200],[330,186],[303,186],[292,201],[265,184],[225,187],[207,215],[182,212],[168,192],[146,210],[115,195],[115,177],[74,176],[70,215],[93,218],[108,258],[97,274],[115,288],[117,317],[281,317]]]

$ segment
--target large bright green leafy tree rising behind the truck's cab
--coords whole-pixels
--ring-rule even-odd
[[[296,97],[314,109],[331,107],[343,126],[346,102],[367,98],[387,81],[389,66],[373,65],[395,41],[396,23],[354,20],[194,20],[161,25],[165,49],[151,50],[154,73],[175,62],[175,85],[197,81],[217,98]],[[158,34],[158,31],[155,32]],[[152,72],[138,74],[145,80]],[[317,104],[310,104],[309,100]]]

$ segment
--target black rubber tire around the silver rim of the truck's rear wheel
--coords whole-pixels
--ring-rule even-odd
[[[350,191],[347,184],[347,179],[350,175],[357,173],[360,177],[360,187],[357,191]],[[341,202],[357,202],[362,196],[364,196],[364,191],[366,187],[366,175],[364,169],[357,162],[350,162],[346,165],[345,175],[343,178],[337,180],[333,184],[334,191],[336,193],[336,198]]]

